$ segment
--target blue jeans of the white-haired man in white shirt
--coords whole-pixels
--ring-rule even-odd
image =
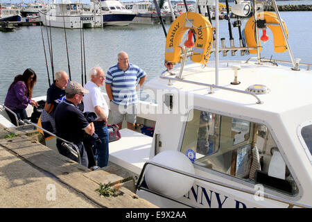
[[[96,153],[98,154],[98,167],[106,167],[109,157],[108,152],[108,130],[104,122],[94,122],[95,133],[101,139],[101,144],[96,144]]]

